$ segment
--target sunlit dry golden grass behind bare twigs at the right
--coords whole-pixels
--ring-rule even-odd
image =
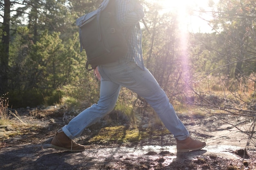
[[[240,79],[227,77],[197,77],[189,90],[179,98],[185,104],[200,108],[211,108],[221,113],[232,109],[236,114],[247,110],[256,111],[256,74]],[[205,110],[204,110],[205,111]],[[228,113],[231,113],[228,112]]]

